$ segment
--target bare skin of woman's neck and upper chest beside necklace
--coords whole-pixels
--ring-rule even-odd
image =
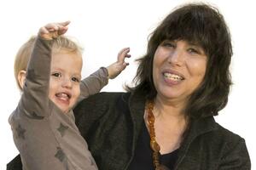
[[[154,133],[157,143],[160,145],[160,153],[166,154],[179,148],[183,133],[187,127],[187,120],[180,105],[166,105],[160,100],[154,100],[152,114],[154,115]],[[168,103],[169,104],[169,103]],[[145,121],[148,113],[146,111]]]

